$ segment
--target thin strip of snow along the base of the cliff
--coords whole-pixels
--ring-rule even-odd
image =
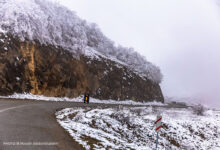
[[[9,96],[0,96],[0,98],[12,98],[12,99],[31,99],[31,100],[42,100],[42,101],[68,101],[68,102],[83,102],[83,96],[79,96],[76,98],[68,98],[68,97],[46,97],[43,95],[33,95],[30,93],[24,93],[24,94],[19,94],[19,93],[14,93],[13,95]],[[103,103],[103,104],[121,104],[121,105],[146,105],[146,106],[151,106],[151,105],[157,105],[157,106],[165,106],[167,104],[163,104],[160,102],[135,102],[132,100],[125,100],[125,101],[116,101],[116,100],[99,100],[96,98],[90,97],[90,103]]]

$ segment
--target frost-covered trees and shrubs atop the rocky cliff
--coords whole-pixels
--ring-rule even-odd
[[[95,24],[47,0],[0,0],[0,32],[69,50],[75,55],[97,51],[160,83],[160,69],[132,48],[115,46]]]

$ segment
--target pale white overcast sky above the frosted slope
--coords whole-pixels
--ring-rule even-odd
[[[220,107],[220,6],[214,0],[55,0],[158,65],[165,96]]]

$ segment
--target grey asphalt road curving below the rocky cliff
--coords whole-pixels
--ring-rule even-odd
[[[81,150],[57,123],[55,112],[97,106],[118,105],[0,99],[0,150]]]

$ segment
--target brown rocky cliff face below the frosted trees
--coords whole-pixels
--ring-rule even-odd
[[[159,84],[110,59],[76,59],[62,48],[3,34],[0,39],[1,95],[77,97],[89,92],[99,99],[164,101]]]

